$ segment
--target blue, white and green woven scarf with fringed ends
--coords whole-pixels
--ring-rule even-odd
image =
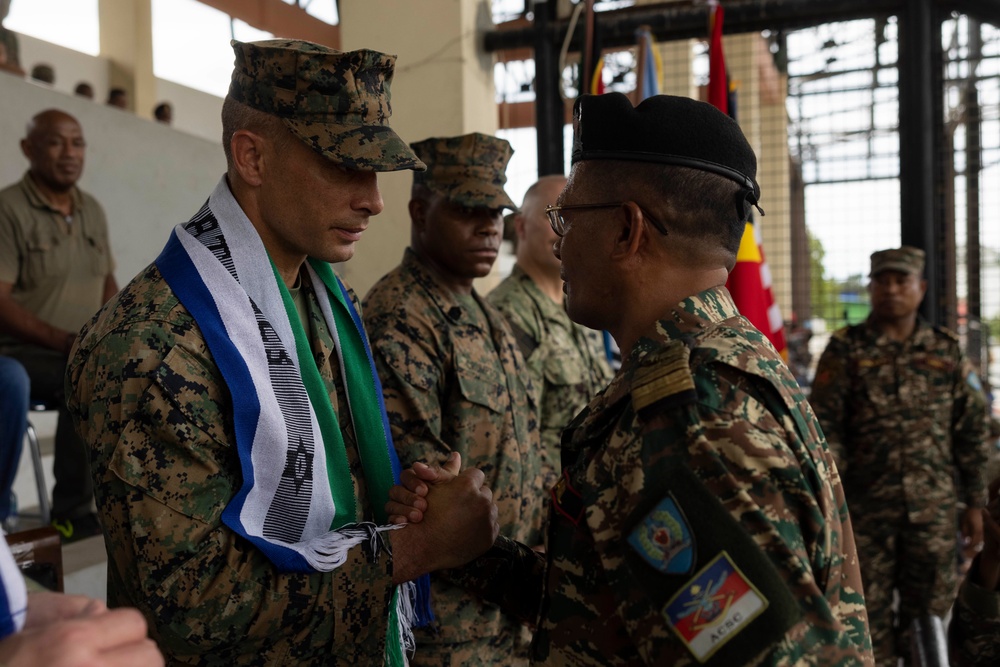
[[[377,558],[399,461],[361,318],[330,265],[306,270],[335,341],[369,498],[355,522],[354,483],[336,411],[291,294],[223,178],[156,260],[192,314],[233,397],[243,487],[222,520],[282,572],[328,572],[367,542]],[[325,287],[325,289],[323,289]],[[323,298],[324,294],[327,298]],[[405,664],[410,628],[430,618],[426,577],[394,593],[386,664]],[[416,609],[414,604],[416,603]]]

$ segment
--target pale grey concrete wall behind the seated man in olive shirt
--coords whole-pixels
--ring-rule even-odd
[[[58,73],[57,73],[58,76]],[[87,139],[80,186],[104,206],[115,272],[124,284],[155,259],[170,229],[195,213],[225,171],[215,142],[131,113],[0,76],[0,184],[28,167],[20,150],[26,121],[43,109],[75,116]]]

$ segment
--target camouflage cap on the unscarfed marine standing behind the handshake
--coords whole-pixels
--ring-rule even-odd
[[[432,137],[410,144],[427,163],[413,182],[430,188],[460,206],[516,211],[503,189],[507,162],[514,153],[505,139],[473,132],[460,137]]]

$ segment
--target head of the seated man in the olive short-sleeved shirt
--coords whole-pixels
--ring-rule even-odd
[[[76,118],[46,109],[28,122],[21,152],[31,163],[35,182],[54,193],[68,192],[83,173],[86,141]]]

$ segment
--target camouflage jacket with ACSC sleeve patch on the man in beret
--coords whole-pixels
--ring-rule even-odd
[[[567,429],[563,463],[544,574],[503,541],[463,570],[524,618],[544,576],[536,664],[872,663],[833,459],[725,288],[637,342]]]

